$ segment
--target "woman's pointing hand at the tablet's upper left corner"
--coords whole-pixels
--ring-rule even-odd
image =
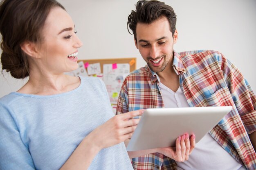
[[[123,113],[112,117],[98,126],[88,137],[92,137],[99,149],[107,148],[129,139],[135,131],[139,119],[132,119],[142,115],[144,109]]]

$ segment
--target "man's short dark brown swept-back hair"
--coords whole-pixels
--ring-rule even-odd
[[[173,8],[157,0],[139,0],[135,4],[136,10],[130,13],[128,16],[127,29],[132,30],[135,41],[137,41],[136,36],[136,26],[137,23],[150,24],[155,20],[165,16],[170,24],[170,31],[174,35],[176,30],[176,14]],[[128,28],[129,27],[129,28]],[[131,34],[131,33],[130,33]]]

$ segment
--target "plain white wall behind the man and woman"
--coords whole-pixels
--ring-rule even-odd
[[[79,59],[137,57],[145,65],[128,34],[128,14],[137,0],[58,0],[72,16],[83,41]],[[256,90],[256,0],[164,0],[177,14],[176,51],[211,49],[222,52]],[[26,81],[0,75],[0,97]]]

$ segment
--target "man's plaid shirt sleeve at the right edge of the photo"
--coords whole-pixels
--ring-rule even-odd
[[[256,131],[256,95],[236,66],[221,54],[221,69],[248,134]]]

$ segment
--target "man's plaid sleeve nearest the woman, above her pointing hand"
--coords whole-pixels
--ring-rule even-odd
[[[128,106],[128,91],[127,91],[127,77],[124,79],[123,85],[121,86],[121,91],[117,100],[117,114],[126,113],[129,111]]]

